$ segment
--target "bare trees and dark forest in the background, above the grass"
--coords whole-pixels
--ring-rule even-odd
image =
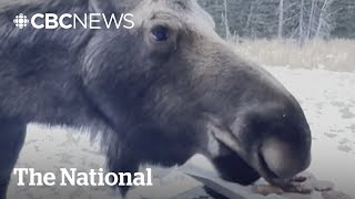
[[[227,40],[355,39],[355,0],[199,0]]]

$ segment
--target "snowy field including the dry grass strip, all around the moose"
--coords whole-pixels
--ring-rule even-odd
[[[301,102],[313,133],[313,163],[308,170],[318,179],[333,181],[337,190],[353,198],[355,198],[354,48],[354,42],[342,40],[321,42],[320,46],[306,44],[303,49],[276,41],[246,42],[235,48],[239,54],[265,63],[265,67]],[[30,125],[28,132],[18,168],[30,167],[43,172],[58,172],[62,167],[74,167],[81,171],[104,168],[104,157],[100,154],[98,145],[90,144],[84,134],[70,128],[49,128],[36,124]],[[192,159],[191,164],[195,167],[210,168],[209,163],[201,157]],[[178,196],[186,198],[185,191],[201,186],[200,182],[183,175],[179,168],[153,168],[153,174],[154,187],[134,188],[128,198],[179,198]],[[205,197],[203,191],[200,197]],[[12,178],[9,198],[113,199],[118,196],[105,187],[17,187]]]

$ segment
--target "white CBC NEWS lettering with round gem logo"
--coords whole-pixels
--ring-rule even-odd
[[[28,18],[23,13],[14,17],[13,23],[19,29],[26,27],[33,27],[34,29],[133,29],[134,21],[132,13],[63,13],[58,15],[55,13],[34,13]]]

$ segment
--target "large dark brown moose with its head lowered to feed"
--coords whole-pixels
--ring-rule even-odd
[[[134,28],[13,24],[91,12],[132,13]],[[293,180],[311,163],[300,103],[235,54],[195,0],[41,0],[3,7],[0,25],[0,199],[29,123],[89,129],[113,172],[202,154],[225,180],[306,191]]]

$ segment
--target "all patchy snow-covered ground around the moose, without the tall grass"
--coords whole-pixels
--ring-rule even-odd
[[[267,67],[300,100],[313,132],[313,163],[310,170],[320,179],[332,180],[336,188],[355,198],[355,73]],[[73,129],[29,126],[26,147],[17,167],[57,171],[61,167],[104,167],[95,144]],[[192,160],[207,167],[203,158]],[[169,198],[201,184],[172,170],[153,168],[154,187],[135,188],[129,198]],[[119,198],[106,188],[94,187],[17,187],[11,181],[9,198]],[[183,196],[183,195],[182,195]],[[186,197],[185,197],[186,198]]]

